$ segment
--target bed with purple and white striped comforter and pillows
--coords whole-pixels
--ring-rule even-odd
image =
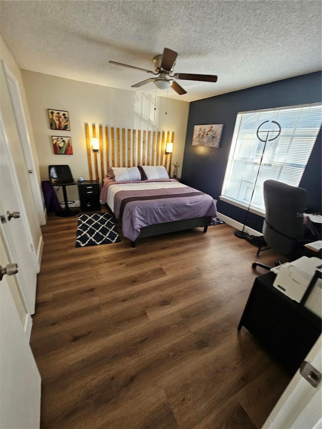
[[[142,237],[196,227],[206,232],[217,215],[210,195],[169,178],[164,166],[110,168],[100,199],[132,247]]]

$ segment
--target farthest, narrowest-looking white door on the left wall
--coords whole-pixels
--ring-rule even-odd
[[[21,147],[22,147],[25,162],[26,162],[26,169],[28,171],[28,179],[29,179],[30,188],[33,194],[35,209],[39,218],[39,224],[45,225],[46,224],[45,202],[42,195],[42,191],[40,190],[40,185],[36,174],[35,161],[32,154],[31,145],[30,145],[30,138],[28,133],[25,112],[24,112],[24,108],[21,100],[19,84],[17,82],[15,75],[11,72],[7,64],[5,63],[3,64],[4,64],[6,79],[8,82],[10,98],[12,101],[12,105],[13,105],[13,109],[16,117],[17,129],[19,132]]]

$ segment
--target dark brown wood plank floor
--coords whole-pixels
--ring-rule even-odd
[[[50,215],[42,227],[41,427],[260,428],[290,377],[237,331],[265,273],[251,268],[256,248],[225,224],[76,248],[76,225]]]

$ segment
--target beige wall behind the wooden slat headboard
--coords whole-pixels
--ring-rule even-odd
[[[34,130],[41,180],[48,180],[48,165],[68,164],[75,179],[89,179],[85,123],[142,130],[175,131],[173,162],[182,164],[189,103],[147,96],[47,74],[22,70]],[[156,107],[156,110],[154,108]],[[47,109],[69,112],[70,131],[50,130]],[[98,130],[98,128],[97,128]],[[51,136],[70,136],[72,155],[55,155]],[[180,173],[180,171],[179,171]],[[68,199],[78,200],[76,187]],[[62,200],[60,191],[59,200]]]

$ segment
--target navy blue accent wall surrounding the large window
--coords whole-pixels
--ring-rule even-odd
[[[183,182],[217,199],[220,213],[244,223],[245,210],[219,200],[237,113],[318,103],[321,94],[321,72],[315,72],[190,103]],[[206,124],[224,124],[220,148],[192,146],[194,126]],[[320,212],[321,130],[299,186],[308,193],[308,208]],[[261,231],[263,218],[249,213],[247,225]]]

